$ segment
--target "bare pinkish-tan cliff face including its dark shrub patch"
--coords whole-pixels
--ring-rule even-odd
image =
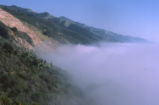
[[[14,41],[19,46],[33,49],[33,46],[41,45],[42,41],[53,41],[43,35],[36,27],[26,22],[22,22],[2,8],[0,8],[0,22],[1,25],[4,24],[1,28],[7,27],[7,33],[14,38]],[[28,38],[31,40],[30,42],[28,41]]]

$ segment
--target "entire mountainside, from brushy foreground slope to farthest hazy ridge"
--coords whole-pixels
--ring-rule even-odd
[[[0,6],[0,105],[93,105],[67,73],[34,54],[42,42],[136,42],[49,13]]]

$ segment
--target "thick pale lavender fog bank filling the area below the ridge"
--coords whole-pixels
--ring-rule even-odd
[[[66,70],[97,105],[159,105],[159,45],[63,45],[40,55]]]

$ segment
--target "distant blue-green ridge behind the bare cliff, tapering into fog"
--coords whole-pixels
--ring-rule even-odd
[[[103,29],[93,28],[66,17],[55,17],[47,12],[36,13],[17,6],[0,6],[22,22],[36,27],[43,35],[61,43],[91,44],[105,42],[137,42],[143,39],[124,36]]]

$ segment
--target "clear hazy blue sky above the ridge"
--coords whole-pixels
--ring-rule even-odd
[[[159,0],[0,0],[113,32],[159,41]]]

